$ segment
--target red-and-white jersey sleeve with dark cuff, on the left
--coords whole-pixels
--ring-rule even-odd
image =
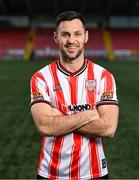
[[[31,91],[31,102],[30,106],[34,103],[44,102],[50,103],[49,89],[47,82],[41,72],[36,72],[30,81],[30,91]]]

